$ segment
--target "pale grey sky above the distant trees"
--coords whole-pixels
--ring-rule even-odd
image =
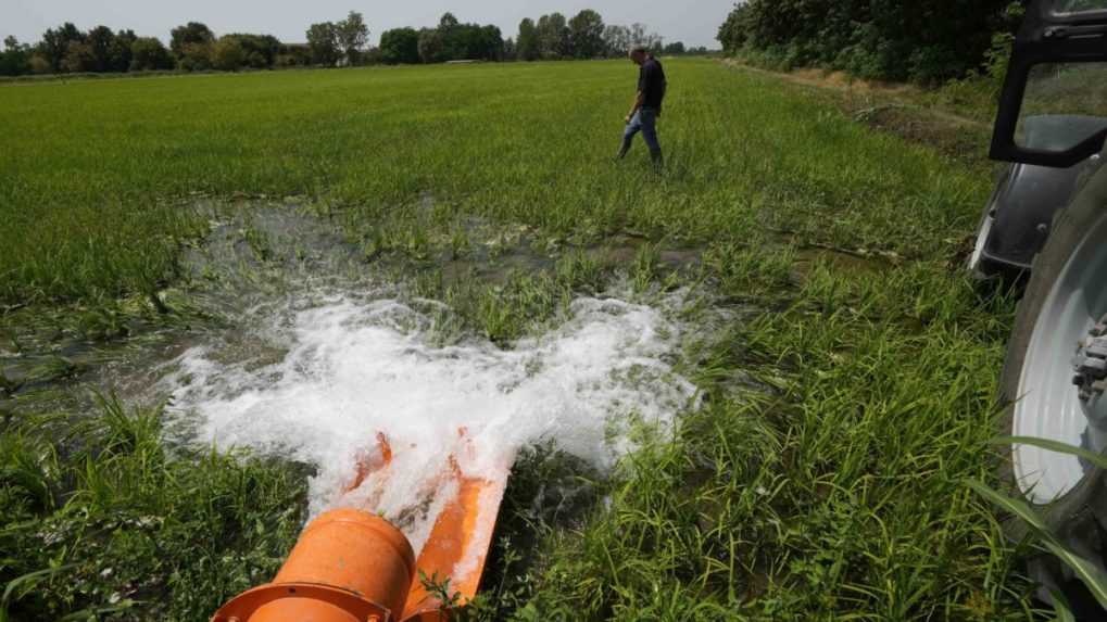
[[[435,25],[446,11],[463,22],[496,24],[507,39],[516,35],[523,18],[555,11],[571,18],[593,9],[604,23],[642,22],[666,42],[717,48],[715,33],[733,6],[734,0],[0,0],[0,38],[35,42],[48,28],[71,21],[81,30],[104,24],[167,42],[174,27],[200,21],[216,34],[250,32],[302,42],[308,25],[354,10],[365,17],[373,43],[389,29]]]

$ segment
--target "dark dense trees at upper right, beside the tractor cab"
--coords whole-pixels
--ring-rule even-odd
[[[744,0],[717,39],[788,66],[937,84],[1004,56],[1021,17],[1012,0]]]

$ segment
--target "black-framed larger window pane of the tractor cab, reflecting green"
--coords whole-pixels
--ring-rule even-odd
[[[1015,131],[1020,147],[1066,152],[1105,128],[1107,62],[1045,63],[1031,69]]]

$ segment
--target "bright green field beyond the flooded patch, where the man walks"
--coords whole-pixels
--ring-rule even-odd
[[[674,61],[670,170],[609,162],[623,62],[281,72],[0,89],[0,297],[156,289],[198,235],[165,197],[307,195],[369,241],[424,193],[477,214],[600,238],[691,241],[758,226],[804,240],[934,253],[986,193],[934,154],[845,123],[772,77]],[[641,146],[641,145],[640,145]],[[418,240],[413,240],[417,245]]]

